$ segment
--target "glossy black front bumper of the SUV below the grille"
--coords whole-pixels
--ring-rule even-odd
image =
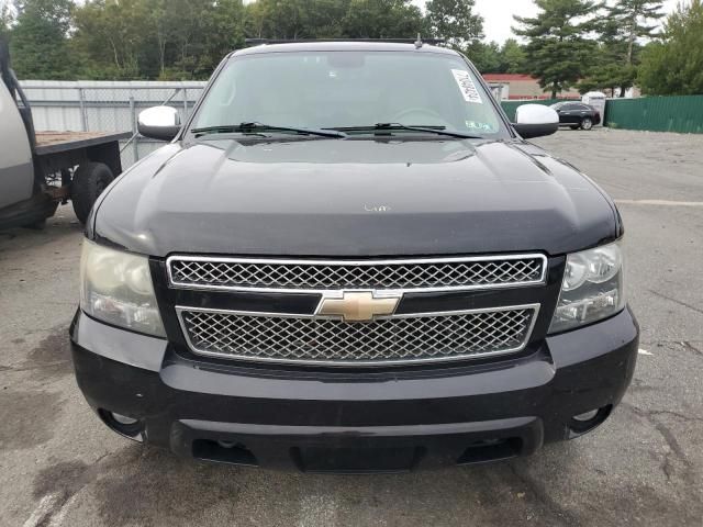
[[[425,370],[271,370],[201,362],[83,313],[71,326],[89,404],[141,421],[145,441],[211,461],[399,471],[528,455],[602,423],[633,375],[629,310],[520,358]],[[600,408],[588,425],[572,419]]]

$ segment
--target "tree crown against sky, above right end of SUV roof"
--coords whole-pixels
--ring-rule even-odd
[[[483,38],[483,18],[473,9],[475,0],[429,0],[425,4],[429,31],[455,48],[477,43]]]

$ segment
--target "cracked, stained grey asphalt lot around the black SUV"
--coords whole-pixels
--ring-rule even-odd
[[[127,441],[72,377],[81,231],[68,205],[45,231],[0,234],[0,525],[701,527],[703,136],[535,143],[621,200],[644,351],[601,428],[510,462],[370,476],[211,466]]]

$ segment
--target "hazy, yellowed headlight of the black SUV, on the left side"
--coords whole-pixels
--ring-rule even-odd
[[[83,240],[80,307],[100,321],[165,337],[149,261],[144,256]]]

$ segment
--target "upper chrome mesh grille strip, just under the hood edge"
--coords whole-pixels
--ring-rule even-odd
[[[399,260],[272,260],[172,256],[172,285],[199,289],[488,289],[544,282],[542,255]]]

